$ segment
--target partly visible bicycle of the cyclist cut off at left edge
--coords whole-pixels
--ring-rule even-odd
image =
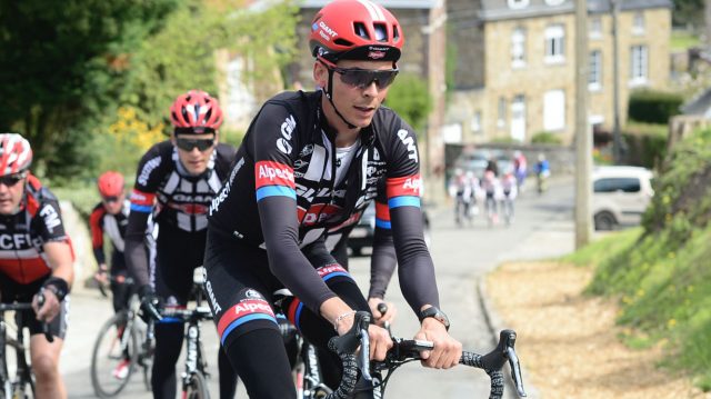
[[[44,299],[40,295],[39,303],[42,306]],[[32,303],[16,302],[0,303],[0,399],[18,398],[24,399],[34,397],[34,376],[32,367],[27,358],[28,348],[24,345],[24,317],[31,315]],[[9,330],[13,327],[6,321],[6,312],[14,312],[16,336],[10,337]],[[42,330],[48,341],[54,341],[49,332],[49,326],[42,323]],[[11,376],[8,365],[8,352],[14,352],[14,377]]]

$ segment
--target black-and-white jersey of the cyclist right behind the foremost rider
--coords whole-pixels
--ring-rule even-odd
[[[200,176],[191,176],[180,163],[178,149],[170,140],[154,144],[146,152],[139,162],[126,232],[126,260],[139,287],[149,282],[149,257],[144,245],[150,230],[149,216],[171,230],[203,231],[208,227],[210,203],[222,187],[233,159],[234,148],[220,143],[214,148],[207,170]],[[201,237],[204,240],[204,236]]]

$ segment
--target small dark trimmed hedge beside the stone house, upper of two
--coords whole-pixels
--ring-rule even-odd
[[[669,118],[681,113],[681,94],[665,91],[641,90],[630,94],[628,116],[638,122],[668,123]]]

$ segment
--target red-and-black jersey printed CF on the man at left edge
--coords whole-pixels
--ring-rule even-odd
[[[42,247],[53,241],[71,247],[59,202],[34,176],[28,174],[20,211],[0,216],[0,273],[19,285],[36,286],[32,283],[52,271]],[[34,292],[36,289],[31,293]]]

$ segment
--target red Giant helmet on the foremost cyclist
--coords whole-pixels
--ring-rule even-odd
[[[400,22],[369,0],[337,0],[313,17],[309,47],[316,58],[395,62],[404,43]]]

